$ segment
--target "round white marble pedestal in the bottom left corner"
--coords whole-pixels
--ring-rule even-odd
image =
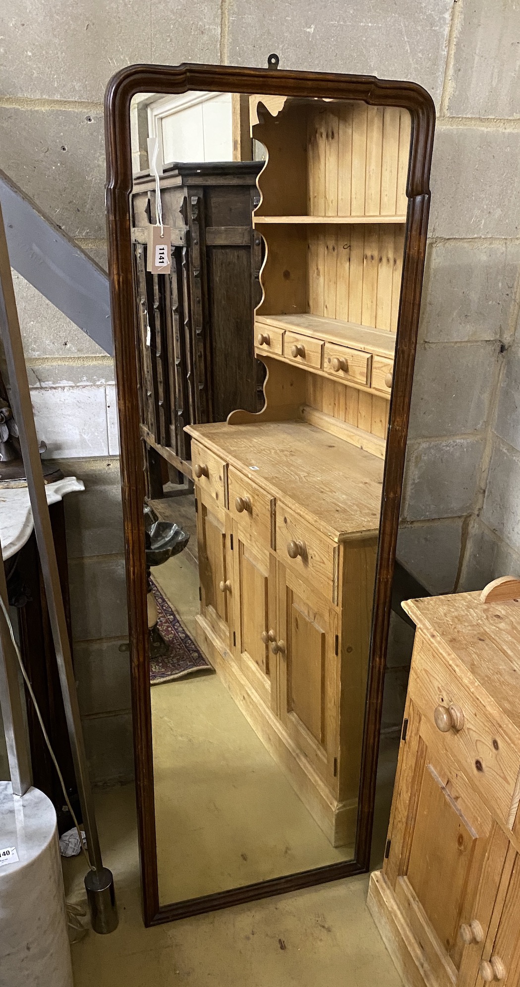
[[[2,864],[16,849],[18,863]],[[0,782],[0,985],[73,987],[56,813],[37,789]]]

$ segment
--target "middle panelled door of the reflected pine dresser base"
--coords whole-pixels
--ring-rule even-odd
[[[268,646],[275,640],[275,558],[234,523],[233,562],[236,660],[263,702],[276,709],[275,659]]]

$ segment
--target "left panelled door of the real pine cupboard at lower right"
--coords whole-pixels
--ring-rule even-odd
[[[474,987],[507,838],[411,700],[384,873],[439,987]]]

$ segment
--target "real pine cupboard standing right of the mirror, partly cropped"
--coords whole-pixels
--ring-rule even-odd
[[[368,906],[409,987],[517,987],[520,602],[461,593],[405,609],[409,695]]]

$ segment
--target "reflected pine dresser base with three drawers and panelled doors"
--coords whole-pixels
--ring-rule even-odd
[[[197,641],[331,842],[344,846],[355,834],[377,552],[379,502],[367,476],[372,467],[380,492],[382,463],[353,448],[342,462],[340,440],[311,432],[321,479],[331,486],[334,477],[340,491],[314,522],[309,498],[322,497],[304,482],[308,425],[190,426]],[[337,530],[336,498],[352,509],[358,460],[355,520]]]

